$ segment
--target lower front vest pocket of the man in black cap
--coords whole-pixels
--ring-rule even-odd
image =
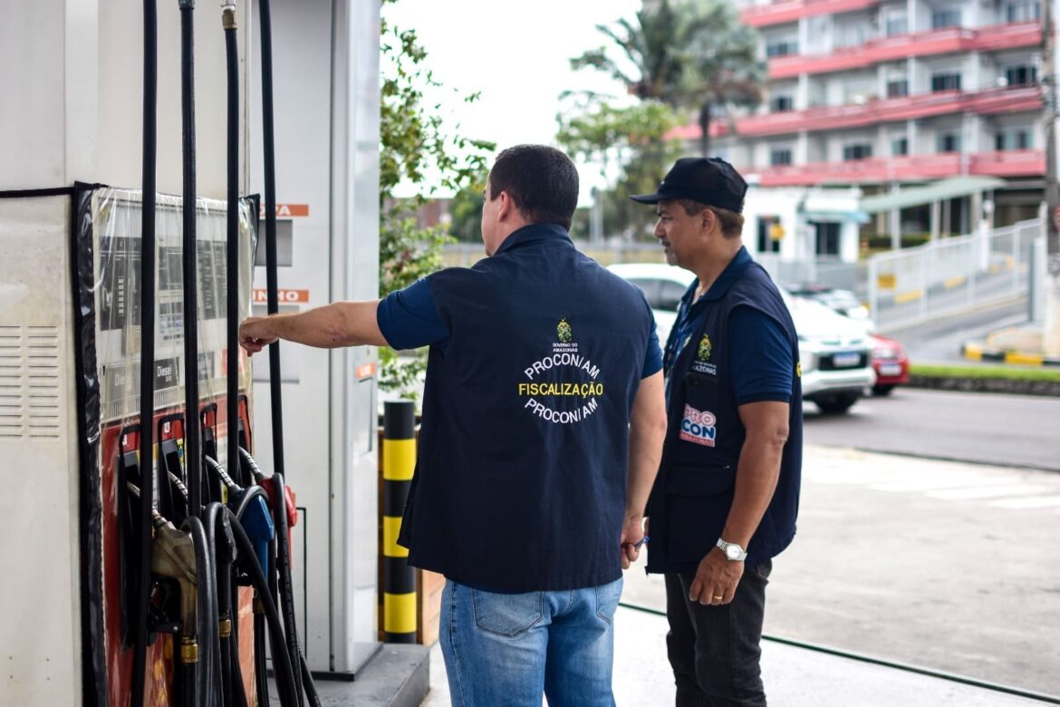
[[[736,469],[672,466],[666,480],[667,553],[675,563],[700,562],[714,546],[732,505]]]

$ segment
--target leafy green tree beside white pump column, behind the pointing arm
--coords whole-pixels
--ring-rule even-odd
[[[393,26],[381,0],[379,25],[379,296],[406,287],[441,267],[442,245],[450,238],[444,227],[422,228],[418,209],[427,198],[427,180],[437,180],[441,190],[460,192],[487,171],[494,144],[448,128],[440,105],[427,105],[425,91],[442,88],[426,67],[427,51],[414,30]],[[467,103],[478,94],[464,98]],[[410,187],[414,196],[398,198],[400,185]],[[410,388],[426,368],[426,356],[399,359],[390,349],[379,350],[379,387]]]

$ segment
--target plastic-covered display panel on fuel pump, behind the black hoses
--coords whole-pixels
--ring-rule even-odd
[[[155,409],[183,405],[183,282],[181,202],[158,195],[155,216]],[[199,392],[206,404],[225,394],[227,204],[197,199]],[[253,199],[240,200],[240,319],[250,314],[250,283],[257,244]],[[102,422],[140,413],[141,193],[100,189],[92,195],[95,243],[93,295],[95,349]],[[241,350],[237,349],[237,353]],[[240,358],[240,389],[250,384],[246,356]],[[219,421],[224,424],[224,421]],[[225,432],[224,429],[220,430]],[[218,460],[226,464],[227,460]]]

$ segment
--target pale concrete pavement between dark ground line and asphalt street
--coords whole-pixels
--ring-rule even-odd
[[[1054,472],[811,445],[765,633],[1060,694],[1058,536]],[[660,578],[623,601],[662,608]]]

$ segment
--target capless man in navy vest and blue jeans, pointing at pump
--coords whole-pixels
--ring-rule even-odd
[[[614,705],[612,622],[666,434],[654,319],[575,249],[566,155],[506,149],[484,196],[490,258],[382,301],[251,317],[241,343],[429,346],[399,543],[447,579],[453,704]]]

